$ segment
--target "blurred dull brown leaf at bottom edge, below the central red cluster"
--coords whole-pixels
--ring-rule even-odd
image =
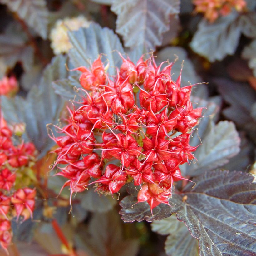
[[[119,215],[111,211],[93,214],[88,229],[79,227],[76,247],[90,256],[135,256],[138,253],[138,240],[124,239]]]

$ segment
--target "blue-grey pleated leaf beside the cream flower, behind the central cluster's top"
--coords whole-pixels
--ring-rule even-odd
[[[123,53],[124,50],[119,38],[112,30],[92,23],[88,28],[80,28],[68,34],[73,46],[69,51],[69,57],[75,67],[89,67],[102,53],[102,61],[109,62],[109,74],[115,74],[115,66],[121,65],[118,52]]]

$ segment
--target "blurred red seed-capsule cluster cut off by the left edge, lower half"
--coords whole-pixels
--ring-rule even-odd
[[[32,217],[36,190],[16,184],[17,175],[34,160],[32,143],[14,145],[13,132],[0,117],[0,245],[6,249],[12,240],[12,218]]]

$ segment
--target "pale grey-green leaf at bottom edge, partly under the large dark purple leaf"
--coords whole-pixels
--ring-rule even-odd
[[[165,241],[165,252],[172,256],[198,256],[198,240],[191,236],[184,223],[177,220],[175,214],[151,224],[152,230],[168,235]]]

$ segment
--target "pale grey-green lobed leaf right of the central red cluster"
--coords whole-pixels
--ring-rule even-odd
[[[208,100],[193,96],[191,101],[194,107],[205,107],[205,110],[190,137],[191,146],[199,145],[194,154],[197,160],[180,165],[180,170],[183,175],[197,176],[228,163],[230,158],[239,153],[240,138],[232,122],[221,121],[214,125],[221,105],[219,96]]]

